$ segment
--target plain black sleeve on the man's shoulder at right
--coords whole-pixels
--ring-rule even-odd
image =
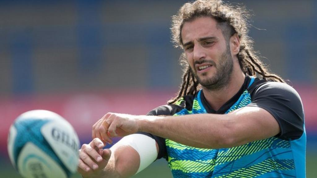
[[[251,93],[252,102],[273,115],[281,132],[276,136],[284,140],[301,137],[304,130],[304,110],[299,94],[281,82],[266,82]]]

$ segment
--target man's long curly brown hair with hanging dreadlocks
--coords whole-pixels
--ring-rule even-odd
[[[266,80],[283,82],[276,74],[270,73],[263,65],[257,52],[253,48],[253,40],[248,36],[249,13],[244,7],[224,4],[222,0],[197,0],[185,3],[178,14],[172,16],[172,42],[176,48],[183,49],[181,30],[185,22],[191,22],[197,17],[212,17],[217,21],[217,28],[227,35],[227,40],[234,34],[240,38],[240,51],[237,54],[240,67],[249,76],[257,76]],[[229,38],[228,38],[229,37]],[[183,68],[183,83],[180,86],[177,97],[169,100],[169,104],[175,103],[184,95],[195,95],[201,86],[192,74],[184,53],[181,54],[180,64]]]

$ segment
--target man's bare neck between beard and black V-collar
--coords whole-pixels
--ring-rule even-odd
[[[229,99],[231,99],[242,87],[245,79],[245,74],[239,70],[232,72],[228,84],[216,90],[210,90],[203,87],[203,92],[206,101],[212,109],[217,111]]]

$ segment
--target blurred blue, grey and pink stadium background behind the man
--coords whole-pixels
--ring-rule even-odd
[[[106,112],[146,114],[178,90],[181,50],[171,16],[186,1],[0,1],[0,172],[19,177],[7,156],[10,124],[21,113],[59,113],[91,140]],[[270,69],[301,95],[307,177],[317,170],[317,1],[232,0],[253,10],[250,36]],[[79,177],[75,175],[74,177]],[[171,177],[159,160],[134,177]]]

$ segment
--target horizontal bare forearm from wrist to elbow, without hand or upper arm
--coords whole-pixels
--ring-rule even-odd
[[[226,115],[147,116],[140,130],[197,148],[222,148],[230,123]]]

